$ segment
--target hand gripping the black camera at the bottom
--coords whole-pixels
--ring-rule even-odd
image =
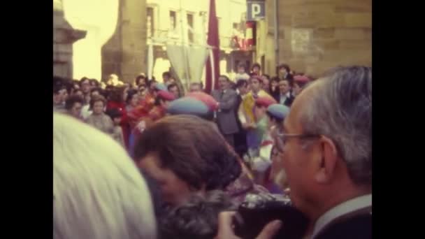
[[[218,233],[215,239],[239,239],[239,237],[233,233],[232,229],[232,219],[235,213],[236,212],[220,212],[218,215]],[[273,238],[279,231],[280,226],[282,226],[282,222],[279,220],[269,222],[264,226],[263,230],[261,230],[257,239]]]

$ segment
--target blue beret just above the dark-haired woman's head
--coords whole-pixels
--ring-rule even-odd
[[[206,117],[209,110],[208,106],[192,97],[183,97],[172,101],[167,108],[167,113],[171,115],[196,115]]]

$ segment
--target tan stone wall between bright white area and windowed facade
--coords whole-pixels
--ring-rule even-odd
[[[146,1],[120,0],[115,34],[102,48],[102,79],[111,73],[133,82],[146,71]]]

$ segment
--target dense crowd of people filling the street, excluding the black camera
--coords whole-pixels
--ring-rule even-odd
[[[304,238],[371,238],[371,68],[162,78],[54,77],[55,238],[238,238],[251,194],[290,198]]]

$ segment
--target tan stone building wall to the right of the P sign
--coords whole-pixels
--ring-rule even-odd
[[[262,22],[267,27],[257,38],[267,43],[262,49],[258,45],[257,53],[265,52],[268,70],[275,65],[274,49],[268,45],[274,45],[274,9],[274,0],[266,1],[267,16]],[[338,65],[371,66],[371,0],[278,0],[278,9],[278,63],[313,76]],[[256,55],[259,59],[261,54]]]

